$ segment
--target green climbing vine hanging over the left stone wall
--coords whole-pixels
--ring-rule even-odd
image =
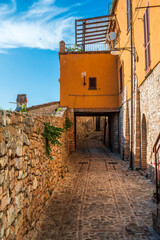
[[[51,146],[52,145],[61,145],[58,139],[61,138],[62,132],[64,132],[63,128],[57,128],[55,126],[51,126],[50,123],[46,122],[43,137],[46,139],[46,154],[49,159],[51,157]]]

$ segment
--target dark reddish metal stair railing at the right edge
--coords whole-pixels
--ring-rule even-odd
[[[160,202],[160,133],[153,146],[155,154],[155,174],[156,174],[156,200],[157,204]]]

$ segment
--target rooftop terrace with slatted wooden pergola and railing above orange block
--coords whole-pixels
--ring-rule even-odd
[[[106,36],[113,32],[115,28],[115,15],[75,20],[75,45],[65,44],[62,41],[60,43],[60,53],[108,51]]]

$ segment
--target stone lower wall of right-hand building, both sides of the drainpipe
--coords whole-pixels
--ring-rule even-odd
[[[120,152],[121,156],[130,158],[130,116],[131,102],[126,101],[126,89],[123,90],[120,109]],[[153,145],[160,132],[160,63],[150,75],[137,87],[134,80],[133,93],[133,154],[134,168],[146,171],[154,177]]]

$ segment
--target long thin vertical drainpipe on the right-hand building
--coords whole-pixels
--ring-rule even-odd
[[[130,168],[133,170],[133,26],[132,0],[130,0],[130,45],[131,45],[131,156]]]

